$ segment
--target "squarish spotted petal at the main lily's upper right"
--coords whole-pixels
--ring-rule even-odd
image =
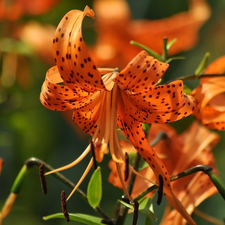
[[[117,75],[114,81],[121,90],[128,93],[149,91],[157,84],[168,67],[168,64],[142,51]]]

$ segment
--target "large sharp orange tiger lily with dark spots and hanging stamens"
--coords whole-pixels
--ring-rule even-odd
[[[157,183],[159,177],[164,179],[163,193],[170,204],[190,224],[195,224],[173,194],[169,174],[142,129],[142,122],[168,123],[192,114],[195,100],[183,93],[182,81],[156,86],[168,64],[157,61],[145,51],[121,72],[117,68],[98,69],[82,37],[81,25],[85,15],[93,18],[94,12],[88,6],[84,11],[72,10],[57,27],[53,39],[56,66],[46,74],[40,95],[42,104],[51,110],[73,110],[73,120],[92,136],[97,161],[102,161],[109,145],[123,189],[129,197],[119,169],[119,163],[124,163],[125,159],[117,136],[118,125],[153,169]],[[89,145],[75,162],[51,173],[74,166],[87,155],[90,148]],[[77,186],[92,164],[93,159]]]

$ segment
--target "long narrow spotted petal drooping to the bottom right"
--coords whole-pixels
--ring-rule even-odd
[[[122,94],[123,95],[123,94]],[[155,173],[156,180],[159,184],[159,176],[163,177],[163,193],[169,203],[190,223],[195,224],[190,215],[186,212],[183,205],[173,194],[169,173],[164,166],[163,162],[158,158],[155,151],[152,149],[148,140],[145,137],[142,125],[140,122],[135,121],[132,116],[123,108],[126,101],[123,102],[122,98],[119,99],[118,104],[118,120],[117,124],[121,130],[126,134],[127,138],[134,145],[139,154],[149,164]]]

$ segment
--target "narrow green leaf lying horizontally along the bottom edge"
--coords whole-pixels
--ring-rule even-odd
[[[75,213],[75,214],[70,213],[69,215],[70,215],[70,220],[73,220],[73,221],[81,222],[88,225],[102,225],[101,223],[102,219],[99,217],[89,216],[89,215],[80,214],[80,213]],[[57,218],[65,219],[63,213],[55,213],[55,214],[43,217],[43,220],[50,220],[50,219],[57,219]]]

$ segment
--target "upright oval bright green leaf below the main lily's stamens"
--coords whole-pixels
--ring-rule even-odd
[[[87,197],[88,197],[88,202],[90,206],[93,208],[96,208],[102,198],[102,175],[101,175],[101,168],[98,167],[88,184],[87,188]]]

